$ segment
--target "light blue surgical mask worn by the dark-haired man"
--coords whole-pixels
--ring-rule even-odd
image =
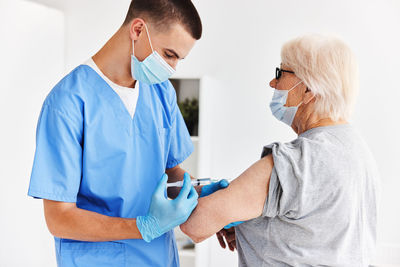
[[[144,25],[149,38],[152,53],[140,62],[135,57],[135,43],[132,40],[131,74],[132,78],[146,84],[157,84],[166,81],[175,70],[153,49],[149,30]]]

